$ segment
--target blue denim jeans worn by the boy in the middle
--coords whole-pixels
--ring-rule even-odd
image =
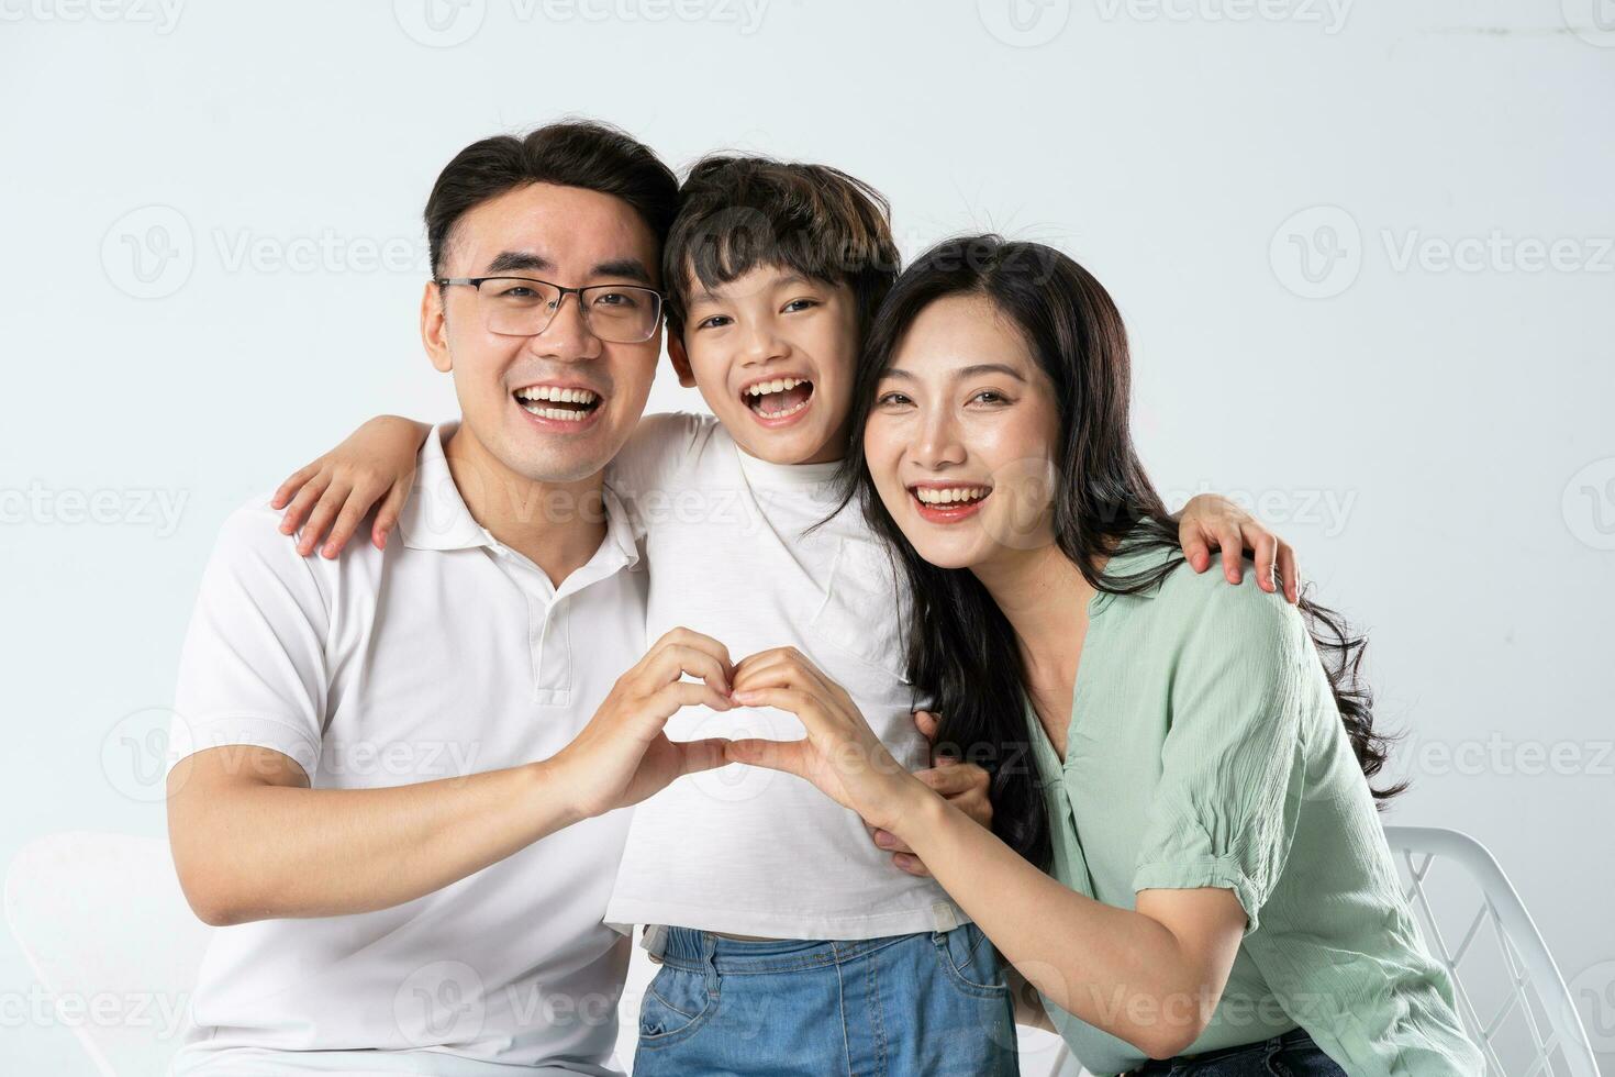
[[[635,1077],[1019,1072],[1003,964],[974,924],[858,941],[673,927],[661,961],[640,1006]]]

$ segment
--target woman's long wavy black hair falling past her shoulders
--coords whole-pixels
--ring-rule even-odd
[[[1134,450],[1127,333],[1105,287],[1051,247],[992,234],[950,239],[921,255],[898,278],[864,342],[841,491],[846,501],[859,501],[909,585],[908,668],[916,693],[929,696],[942,717],[938,748],[993,772],[993,830],[1021,856],[1048,867],[1048,817],[1026,754],[1027,694],[1014,630],[974,573],[938,568],[914,551],[882,504],[864,460],[864,423],[904,331],[930,304],[959,294],[985,295],[1019,326],[1053,384],[1059,415],[1053,531],[1061,552],[1093,588],[1116,594],[1158,583],[1184,557],[1177,526]],[[1126,549],[1171,547],[1176,555],[1134,576],[1095,568],[1129,534]],[[1366,641],[1305,596],[1300,609],[1352,748],[1371,778],[1386,762],[1387,738],[1374,733],[1373,698],[1360,677]],[[1402,788],[1374,790],[1374,798],[1387,799]]]

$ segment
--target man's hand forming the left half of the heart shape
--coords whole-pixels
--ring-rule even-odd
[[[733,664],[722,643],[688,628],[656,641],[617,678],[583,731],[549,761],[580,819],[638,804],[673,778],[728,762],[724,738],[670,741],[662,727],[680,707],[728,710]],[[685,675],[694,681],[683,680]]]

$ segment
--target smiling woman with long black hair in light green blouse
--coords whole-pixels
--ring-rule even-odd
[[[743,660],[733,698],[808,738],[728,756],[896,835],[1093,1072],[1473,1077],[1376,819],[1395,790],[1365,780],[1384,746],[1363,644],[1305,599],[1184,565],[1129,383],[1100,283],[995,236],[922,255],[862,357],[843,483],[908,576],[938,744],[993,761],[995,833],[788,649]]]

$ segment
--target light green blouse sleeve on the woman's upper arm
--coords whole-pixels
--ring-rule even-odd
[[[1302,714],[1316,662],[1300,614],[1252,576],[1214,576],[1172,664],[1161,773],[1134,891],[1232,890],[1245,933],[1284,872],[1305,782]]]

